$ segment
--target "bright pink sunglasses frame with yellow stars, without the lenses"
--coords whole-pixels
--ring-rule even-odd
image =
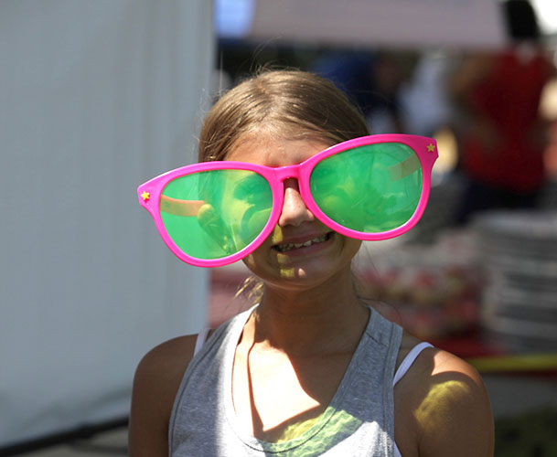
[[[365,233],[357,230],[352,230],[350,228],[345,228],[341,225],[338,225],[337,222],[335,222],[334,220],[327,218],[325,213],[323,213],[323,211],[321,211],[321,209],[317,207],[316,202],[309,190],[309,177],[316,164],[319,163],[321,160],[327,158],[328,156],[355,147],[377,143],[402,143],[410,147],[416,153],[423,170],[423,185],[420,201],[418,203],[418,206],[416,207],[414,214],[412,215],[412,218],[410,218],[399,228],[393,228],[391,230],[380,233]],[[155,227],[157,228],[162,239],[165,241],[166,246],[177,256],[178,259],[198,267],[220,267],[243,259],[247,255],[252,253],[253,250],[256,250],[262,244],[263,240],[271,234],[283,210],[284,180],[287,178],[295,178],[298,181],[300,195],[304,200],[307,209],[309,209],[311,213],[328,228],[335,230],[340,235],[363,240],[391,239],[402,235],[402,233],[405,233],[406,231],[414,227],[423,215],[423,211],[425,210],[430,194],[431,173],[437,156],[437,143],[433,138],[399,133],[369,135],[335,144],[334,146],[331,146],[326,150],[311,156],[309,159],[298,165],[287,165],[273,168],[269,166],[254,165],[244,162],[213,161],[182,166],[175,170],[166,172],[162,175],[158,175],[145,182],[137,188],[137,195],[139,197],[139,203],[141,204],[141,206],[145,207],[145,209],[149,212],[149,214],[155,221]],[[258,173],[259,175],[262,175],[271,186],[273,195],[273,208],[271,210],[271,216],[269,217],[269,220],[265,227],[262,229],[262,232],[257,236],[257,238],[253,239],[253,241],[244,249],[221,259],[196,259],[194,257],[188,256],[185,252],[180,250],[177,247],[177,244],[170,238],[170,236],[166,232],[166,228],[163,224],[160,213],[160,200],[162,192],[165,186],[171,180],[179,176],[209,170],[222,169],[250,170]],[[192,202],[192,204],[195,207],[195,203]]]

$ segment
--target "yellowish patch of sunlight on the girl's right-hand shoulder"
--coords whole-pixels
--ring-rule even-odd
[[[470,388],[463,381],[450,380],[435,384],[414,411],[414,416],[422,424],[434,423],[450,416],[455,401],[471,395]]]

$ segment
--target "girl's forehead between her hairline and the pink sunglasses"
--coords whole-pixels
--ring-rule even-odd
[[[296,165],[331,146],[325,140],[250,137],[231,149],[225,160],[265,166]]]

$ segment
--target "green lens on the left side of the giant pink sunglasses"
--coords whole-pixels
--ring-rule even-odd
[[[248,246],[271,216],[271,186],[248,170],[211,170],[180,176],[163,190],[163,224],[180,250],[220,259]]]

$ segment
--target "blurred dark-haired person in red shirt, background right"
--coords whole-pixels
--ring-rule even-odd
[[[465,188],[458,223],[489,208],[536,207],[545,183],[547,122],[540,101],[554,68],[541,47],[530,3],[508,0],[501,6],[509,48],[467,56],[449,80],[449,92],[465,115],[459,133]]]

